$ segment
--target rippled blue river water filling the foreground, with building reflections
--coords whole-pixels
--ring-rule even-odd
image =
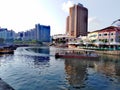
[[[15,90],[120,90],[120,57],[55,59],[53,47],[0,56],[0,78]]]

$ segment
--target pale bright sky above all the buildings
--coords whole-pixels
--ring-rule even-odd
[[[51,35],[64,34],[69,8],[88,9],[88,31],[103,29],[120,19],[120,0],[0,0],[0,27],[26,31],[35,24],[51,26]]]

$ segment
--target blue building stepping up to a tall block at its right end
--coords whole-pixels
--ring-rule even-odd
[[[19,32],[18,36],[21,40],[36,40],[40,42],[50,42],[50,26],[36,24],[35,28],[26,32]]]

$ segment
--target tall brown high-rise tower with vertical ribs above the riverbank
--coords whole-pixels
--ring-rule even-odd
[[[66,33],[71,37],[87,35],[88,9],[82,4],[74,5],[69,9],[70,15],[66,21]]]

